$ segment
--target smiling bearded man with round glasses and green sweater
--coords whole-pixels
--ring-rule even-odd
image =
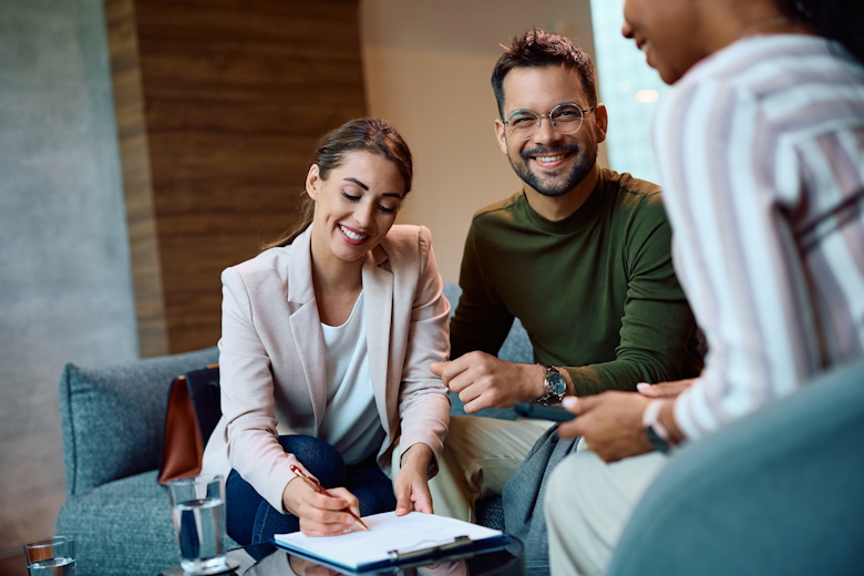
[[[597,164],[607,114],[589,56],[534,30],[505,48],[492,85],[497,142],[525,185],[474,215],[453,360],[432,371],[469,414],[698,376],[697,327],[672,270],[660,189]],[[535,364],[495,357],[514,318]],[[526,542],[526,567],[538,574],[548,573],[543,480],[576,445],[551,425],[454,416],[430,482],[435,512],[467,521],[477,497],[503,494],[505,529]]]

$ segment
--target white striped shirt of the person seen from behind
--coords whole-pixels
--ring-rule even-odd
[[[864,66],[816,37],[740,40],[676,84],[654,150],[709,344],[687,438],[864,354]]]

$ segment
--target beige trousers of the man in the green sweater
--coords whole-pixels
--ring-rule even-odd
[[[476,523],[476,501],[501,495],[552,424],[547,420],[452,416],[439,473],[429,481],[435,514]]]

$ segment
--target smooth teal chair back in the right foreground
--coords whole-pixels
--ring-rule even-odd
[[[864,361],[676,451],[608,576],[860,574]]]

